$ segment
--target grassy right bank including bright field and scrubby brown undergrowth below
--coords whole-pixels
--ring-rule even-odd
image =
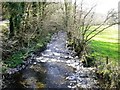
[[[118,29],[115,26],[106,29],[92,39],[90,46],[100,86],[108,89],[119,87]]]

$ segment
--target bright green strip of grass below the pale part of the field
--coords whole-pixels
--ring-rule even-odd
[[[103,57],[108,56],[111,59],[118,60],[118,44],[103,42],[103,41],[92,41],[92,49],[96,54],[101,55]]]

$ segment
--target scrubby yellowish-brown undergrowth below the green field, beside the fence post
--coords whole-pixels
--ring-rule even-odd
[[[101,83],[100,86],[104,88],[117,88],[120,83],[120,72],[118,63],[109,61],[106,64],[106,59],[101,58],[95,61],[95,66],[97,67],[98,78]]]

